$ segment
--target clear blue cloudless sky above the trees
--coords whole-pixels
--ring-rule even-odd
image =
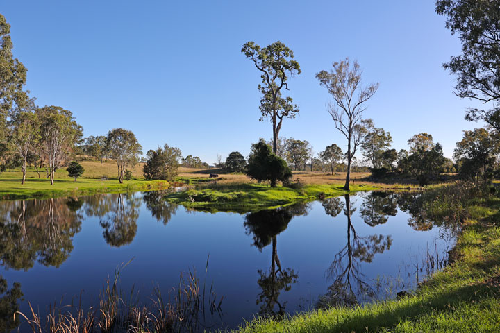
[[[433,0],[0,0],[0,12],[38,105],[71,110],[85,137],[133,130],[144,153],[167,143],[213,163],[272,137],[258,121],[260,75],[240,52],[249,40],[294,51],[302,74],[288,93],[300,116],[280,135],[308,140],[315,153],[346,148],[315,78],[346,56],[365,83],[380,83],[365,117],[390,131],[397,150],[426,132],[451,157],[462,130],[482,126],[464,120],[480,104],[454,96],[456,78],[442,68],[460,42]]]

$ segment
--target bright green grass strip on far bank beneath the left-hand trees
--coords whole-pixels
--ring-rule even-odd
[[[45,179],[41,173],[29,170],[26,182],[21,185],[22,174],[20,171],[6,171],[0,176],[0,200],[16,200],[28,198],[54,198],[57,196],[83,196],[98,193],[113,193],[123,191],[148,191],[153,189],[165,189],[168,182],[153,180],[125,180],[120,184],[117,179],[101,180],[90,178],[73,178],[67,176],[65,170],[56,172],[54,184]]]

